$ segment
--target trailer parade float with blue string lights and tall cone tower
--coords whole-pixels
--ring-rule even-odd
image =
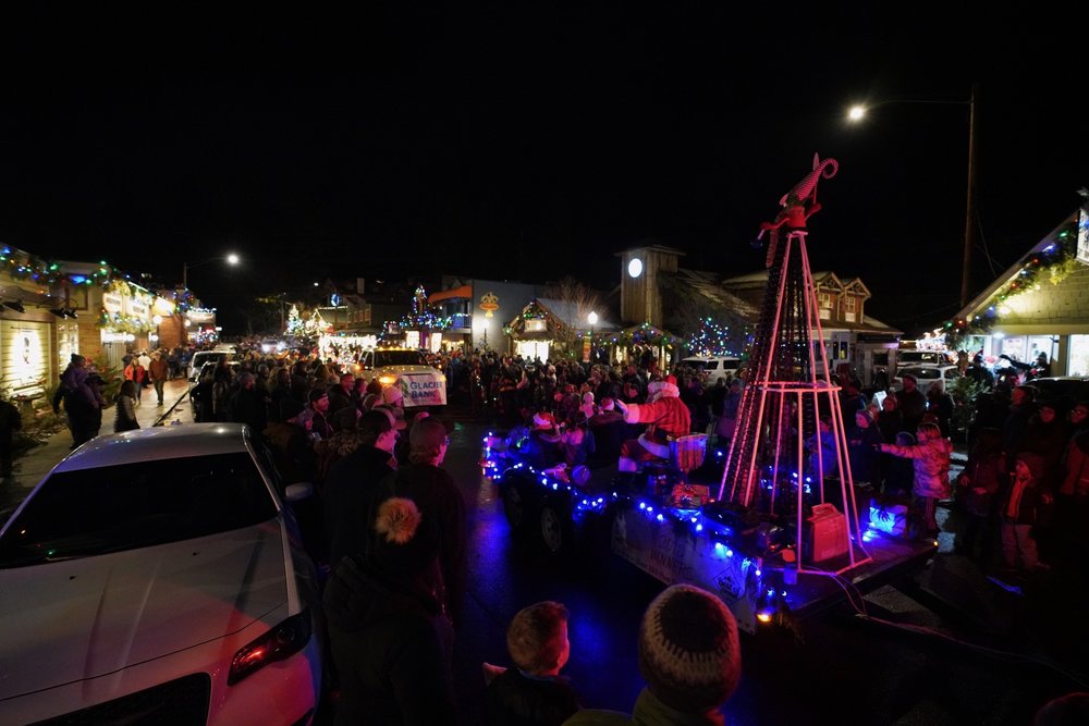
[[[481,465],[514,530],[559,552],[580,524],[604,521],[616,555],[666,585],[718,593],[749,632],[796,622],[929,559],[933,540],[905,537],[906,504],[871,501],[851,473],[806,249],[818,182],[836,170],[835,160],[815,158],[775,220],[761,225],[768,291],[730,446],[708,457],[706,435],[682,436],[668,462],[620,488],[589,471],[535,469],[519,460],[523,434],[489,434]]]

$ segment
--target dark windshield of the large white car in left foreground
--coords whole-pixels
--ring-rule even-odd
[[[60,471],[0,540],[0,568],[179,542],[276,514],[245,452]]]

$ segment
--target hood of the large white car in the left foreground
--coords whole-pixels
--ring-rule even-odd
[[[286,601],[285,573],[279,519],[0,570],[0,700],[236,632]]]

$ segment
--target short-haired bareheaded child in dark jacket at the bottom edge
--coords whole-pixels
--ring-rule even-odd
[[[568,617],[561,603],[548,601],[522,608],[511,620],[506,650],[516,667],[488,685],[489,724],[559,726],[579,710],[575,689],[560,675],[571,655]]]

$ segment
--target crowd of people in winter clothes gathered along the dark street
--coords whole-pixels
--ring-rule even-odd
[[[170,355],[154,353],[146,364],[143,357],[126,361],[118,430],[135,422],[143,384],[150,383],[161,401],[155,381],[173,374]],[[485,353],[435,362],[452,397],[525,426],[527,455],[542,467],[568,469],[603,460],[631,471],[668,456],[669,438],[694,431],[725,445],[745,385],[743,371],[708,385],[698,370],[665,372],[652,359],[610,366]],[[195,417],[249,424],[286,479],[317,483],[319,508],[306,529],[319,536],[307,545],[328,573],[337,723],[452,723],[467,514],[442,467],[450,431],[437,417],[409,417],[396,387],[357,378],[356,368],[302,352],[242,350],[197,381]],[[97,410],[101,423],[105,401],[96,378],[81,356],[62,376],[59,396],[77,422],[77,443],[97,433],[94,415],[84,420],[81,411]],[[953,403],[940,385],[923,392],[906,374],[902,389],[878,404],[880,396],[862,394],[851,377],[840,383],[854,481],[874,494],[910,494],[915,533],[933,536],[937,504],[955,493],[964,517],[958,549],[988,566],[1027,575],[1048,567],[1064,547],[1085,546],[1089,403],[1041,399],[1031,385],[999,379],[976,401],[971,453],[951,485]],[[821,421],[815,448],[830,424]],[[836,475],[834,456],[824,458],[832,463],[824,473]],[[488,723],[633,723],[626,721],[632,715],[583,709],[561,675],[572,654],[568,616],[554,602],[515,616],[507,633],[511,665],[485,664]],[[670,588],[648,607],[638,637],[648,686],[633,705],[634,723],[721,723],[719,709],[741,668],[736,625],[721,600],[696,588]],[[692,659],[706,667],[686,668]],[[431,697],[418,698],[420,689]]]

